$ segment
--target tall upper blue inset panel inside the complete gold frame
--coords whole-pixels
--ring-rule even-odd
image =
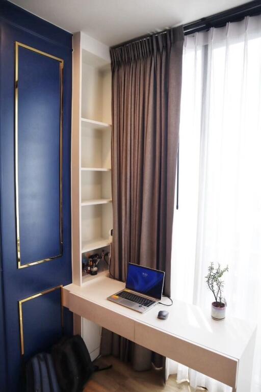
[[[60,132],[63,61],[17,44],[16,214],[20,265],[62,253]]]

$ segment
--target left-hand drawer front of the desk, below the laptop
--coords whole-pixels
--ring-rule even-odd
[[[134,320],[71,292],[68,297],[68,307],[73,313],[134,342]]]

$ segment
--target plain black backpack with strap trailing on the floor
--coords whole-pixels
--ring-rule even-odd
[[[93,365],[80,335],[63,338],[51,354],[61,392],[81,392],[93,372],[111,368],[99,369]]]

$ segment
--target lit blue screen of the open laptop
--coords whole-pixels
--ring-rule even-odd
[[[128,264],[126,289],[137,291],[156,299],[162,298],[165,272],[137,264]]]

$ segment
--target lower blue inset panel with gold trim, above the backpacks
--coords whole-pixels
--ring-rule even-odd
[[[63,317],[61,288],[20,302],[22,349],[24,358],[46,350],[62,336]],[[32,315],[34,318],[32,319]]]

